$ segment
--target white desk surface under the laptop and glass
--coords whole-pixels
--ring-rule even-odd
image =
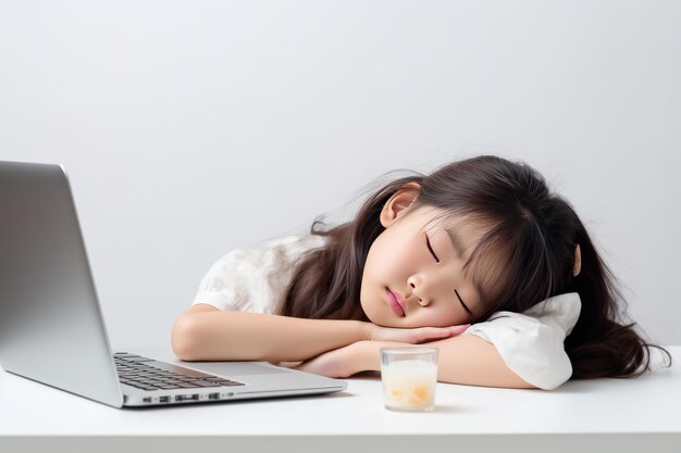
[[[671,369],[555,391],[438,383],[419,414],[383,408],[373,374],[323,397],[116,410],[0,372],[0,452],[680,452],[681,347],[669,351]]]

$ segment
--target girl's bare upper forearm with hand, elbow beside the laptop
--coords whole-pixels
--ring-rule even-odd
[[[175,322],[172,347],[185,361],[299,362],[357,341],[419,343],[457,335],[466,327],[391,329],[359,320],[304,319],[196,304]]]

